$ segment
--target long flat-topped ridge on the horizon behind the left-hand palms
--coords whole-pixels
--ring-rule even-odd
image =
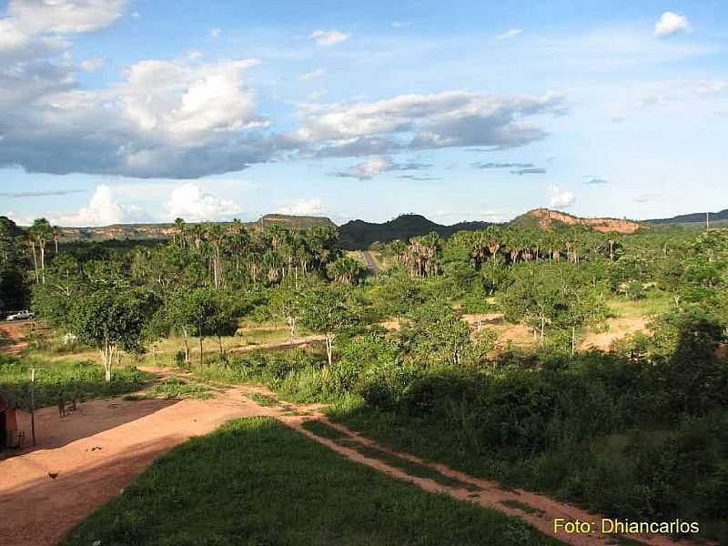
[[[229,226],[230,222],[219,222]],[[335,226],[326,217],[298,217],[282,214],[267,214],[255,222],[245,222],[243,225],[251,229],[268,228],[274,224],[284,225],[291,229],[308,229],[313,226]],[[188,223],[187,226],[194,226]],[[116,224],[104,227],[63,227],[65,241],[105,241],[110,239],[165,240],[172,238],[175,231],[173,224]]]

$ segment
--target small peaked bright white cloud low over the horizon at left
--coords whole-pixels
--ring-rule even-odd
[[[105,184],[96,186],[88,204],[78,212],[49,216],[54,224],[68,227],[109,226],[147,219],[142,208],[119,204],[114,191]]]

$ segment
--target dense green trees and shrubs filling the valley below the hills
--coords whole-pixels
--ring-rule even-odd
[[[203,378],[328,401],[398,448],[621,517],[693,518],[728,539],[728,230],[431,233],[379,245],[388,267],[374,277],[332,227],[179,220],[168,244],[58,253],[43,252],[54,240],[43,221],[29,234],[16,247],[35,310],[97,349],[107,377],[121,352],[177,337],[178,364]],[[649,332],[580,349],[616,303],[652,315]],[[501,313],[529,339],[498,343],[467,313]],[[303,328],[323,347],[227,354],[241,320],[285,323],[291,339]],[[207,338],[218,350],[206,355]]]

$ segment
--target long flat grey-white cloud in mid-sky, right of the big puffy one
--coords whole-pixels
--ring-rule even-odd
[[[319,157],[364,156],[441,147],[519,147],[546,133],[524,121],[561,114],[563,98],[464,91],[401,95],[370,103],[300,106],[292,142],[318,143]]]

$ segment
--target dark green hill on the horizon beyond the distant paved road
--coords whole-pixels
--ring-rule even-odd
[[[345,248],[369,248],[374,242],[389,243],[394,239],[405,242],[410,238],[426,235],[431,232],[442,237],[450,237],[458,231],[475,231],[490,226],[488,222],[460,222],[452,226],[443,226],[419,214],[403,214],[381,224],[352,220],[339,227],[341,244]]]

